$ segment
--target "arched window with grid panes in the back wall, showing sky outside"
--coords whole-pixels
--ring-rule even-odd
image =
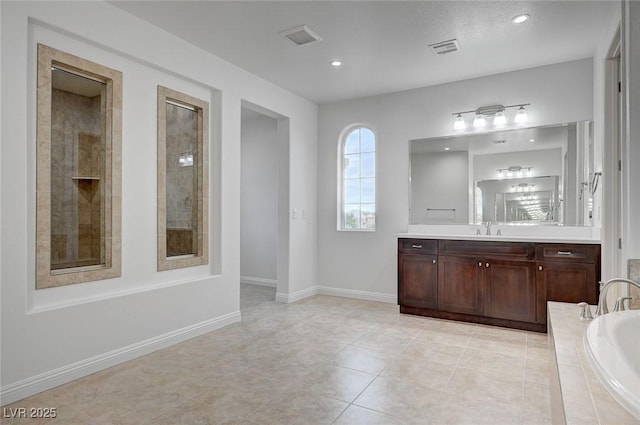
[[[376,138],[366,127],[340,142],[339,230],[376,229]]]

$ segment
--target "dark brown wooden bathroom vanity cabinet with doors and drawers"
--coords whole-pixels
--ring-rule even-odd
[[[547,301],[597,303],[597,243],[398,238],[401,313],[546,332]]]

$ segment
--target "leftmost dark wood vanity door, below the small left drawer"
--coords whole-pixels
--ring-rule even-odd
[[[436,309],[438,262],[435,255],[401,254],[398,262],[398,304]]]

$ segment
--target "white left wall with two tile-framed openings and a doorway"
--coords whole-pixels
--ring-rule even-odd
[[[240,116],[287,117],[288,285],[316,273],[317,107],[103,2],[1,2],[2,402],[239,319]],[[35,291],[35,52],[42,42],[123,72],[122,277]],[[156,271],[156,85],[211,102],[211,258]],[[217,241],[217,242],[215,242]]]

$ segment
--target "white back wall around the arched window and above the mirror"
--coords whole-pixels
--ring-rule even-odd
[[[319,108],[318,285],[393,301],[396,239],[408,225],[408,141],[452,135],[454,111],[531,103],[531,126],[593,118],[591,59],[543,66]],[[336,231],[336,150],[340,132],[363,123],[378,147],[377,229]]]

